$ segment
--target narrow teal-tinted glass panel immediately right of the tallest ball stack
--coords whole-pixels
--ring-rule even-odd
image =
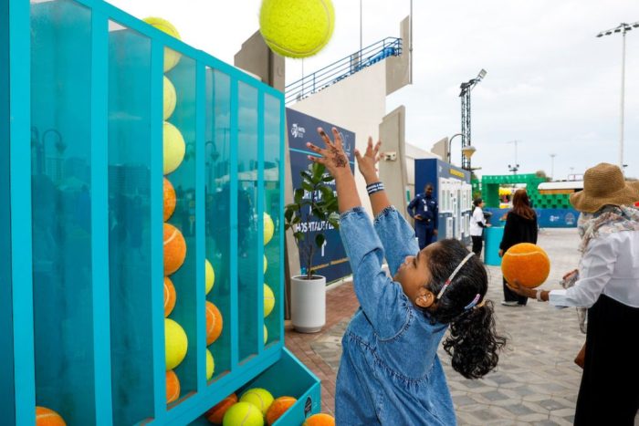
[[[207,339],[215,360],[214,378],[231,369],[231,79],[222,72],[206,69],[205,192],[206,260],[214,271],[207,281],[213,288],[206,295],[222,317],[222,331]],[[210,271],[209,271],[209,275]],[[208,277],[207,277],[208,278]],[[211,307],[209,307],[211,308]],[[211,312],[215,313],[215,308]],[[211,316],[207,312],[208,316]],[[211,317],[213,318],[213,317]],[[207,319],[210,320],[210,319]],[[208,327],[207,327],[208,329]]]

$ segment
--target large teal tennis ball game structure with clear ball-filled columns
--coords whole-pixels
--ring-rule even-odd
[[[162,18],[6,5],[3,424],[211,424],[249,389],[318,413],[284,347],[283,94]]]

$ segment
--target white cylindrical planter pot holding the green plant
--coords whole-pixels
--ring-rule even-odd
[[[300,333],[317,333],[326,324],[326,277],[290,278],[290,319]]]

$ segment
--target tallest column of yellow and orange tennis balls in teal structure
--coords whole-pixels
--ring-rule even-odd
[[[163,31],[169,36],[180,39],[175,26],[159,17],[148,17],[144,22]],[[164,72],[173,69],[180,61],[180,54],[164,48]],[[177,107],[177,91],[171,79],[164,76],[162,79],[162,140],[163,140],[163,213],[164,220],[164,344],[166,352],[166,401],[167,404],[178,400],[180,397],[180,379],[173,369],[178,367],[186,357],[188,338],[183,327],[169,316],[173,312],[178,292],[175,289],[173,275],[182,267],[186,258],[186,242],[178,227],[168,223],[177,204],[177,198],[173,184],[166,176],[177,170],[182,164],[186,144],[180,130],[168,119],[171,119]],[[212,364],[212,361],[211,361]],[[209,366],[207,358],[207,368]]]

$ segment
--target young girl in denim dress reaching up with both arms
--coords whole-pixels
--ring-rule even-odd
[[[380,143],[362,156],[374,226],[361,207],[341,138],[321,129],[326,148],[307,146],[335,178],[340,234],[351,261],[361,308],[342,339],[337,377],[337,424],[454,425],[455,410],[437,347],[444,342],[452,365],[468,379],[494,369],[505,339],[496,335],[487,273],[456,240],[419,251],[414,231],[388,202],[375,171]],[[382,271],[386,258],[393,278]]]

